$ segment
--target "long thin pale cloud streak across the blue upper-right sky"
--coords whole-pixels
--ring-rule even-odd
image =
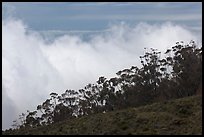
[[[197,13],[189,14],[155,14],[155,13],[145,13],[137,15],[127,15],[126,13],[121,14],[80,14],[80,15],[64,15],[59,17],[59,19],[66,18],[67,20],[133,20],[133,21],[198,21],[202,20],[202,15]]]

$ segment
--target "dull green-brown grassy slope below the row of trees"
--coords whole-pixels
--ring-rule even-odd
[[[202,134],[202,97],[95,114],[15,134]]]

